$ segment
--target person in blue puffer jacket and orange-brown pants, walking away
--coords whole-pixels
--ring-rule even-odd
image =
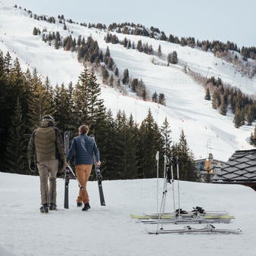
[[[92,171],[93,158],[95,156],[96,164],[101,165],[99,158],[99,151],[95,140],[88,136],[89,126],[82,125],[79,127],[79,136],[73,138],[70,150],[67,154],[67,161],[74,155],[75,166],[76,166],[76,176],[80,183],[80,192],[76,199],[77,206],[83,206],[83,211],[88,211],[89,205],[89,195],[86,189],[86,183],[89,180],[89,176]]]

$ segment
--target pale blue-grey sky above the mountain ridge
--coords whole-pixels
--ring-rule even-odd
[[[256,46],[254,0],[0,0],[36,14],[64,14],[76,22],[133,22],[158,27],[166,36],[194,36],[199,40]]]

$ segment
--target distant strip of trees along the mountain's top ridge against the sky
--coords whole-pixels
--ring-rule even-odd
[[[14,8],[17,8],[17,5],[14,5]],[[27,11],[26,9],[24,9]],[[33,17],[36,20],[45,20],[49,23],[55,23],[56,19],[55,17],[46,17],[45,15],[36,15],[32,14],[32,11],[27,11],[30,14],[30,17]],[[64,30],[67,30],[67,23],[75,23],[71,19],[65,19],[64,15],[58,15],[58,23],[64,23]],[[77,23],[78,24],[78,23]],[[123,33],[123,34],[129,34],[129,35],[136,35],[136,36],[148,36],[150,38],[159,39],[167,42],[173,42],[182,46],[188,45],[189,47],[198,47],[201,48],[204,51],[211,51],[216,55],[217,57],[225,57],[226,61],[231,61],[233,64],[236,64],[237,62],[237,55],[235,60],[233,58],[230,58],[229,52],[239,52],[242,55],[243,60],[246,64],[248,64],[246,61],[248,58],[251,58],[252,60],[256,60],[256,48],[255,46],[251,47],[245,47],[242,46],[240,49],[236,43],[227,41],[226,43],[220,42],[219,40],[203,40],[195,41],[195,37],[189,36],[189,37],[181,37],[174,36],[173,34],[170,34],[169,36],[166,36],[164,31],[160,31],[156,27],[150,27],[145,28],[142,24],[139,23],[111,23],[108,27],[105,24],[102,23],[80,23],[80,26],[89,27],[89,28],[96,28],[98,30],[108,30],[108,31],[116,31],[117,33]],[[239,64],[241,65],[241,64]],[[245,65],[246,66],[246,65]],[[240,68],[240,67],[239,67]],[[253,70],[248,70],[248,67],[243,67],[242,72],[248,73],[250,77],[253,77],[256,73],[256,67],[252,67]]]

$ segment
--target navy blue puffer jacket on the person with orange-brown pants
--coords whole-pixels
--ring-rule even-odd
[[[95,140],[86,134],[80,134],[72,140],[70,151],[67,154],[67,161],[75,155],[75,165],[93,164],[93,155],[96,161],[100,161],[99,152]]]

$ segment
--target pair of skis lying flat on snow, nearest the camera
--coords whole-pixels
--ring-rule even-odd
[[[208,224],[202,228],[192,226],[184,226],[183,229],[158,229],[156,231],[148,231],[148,234],[167,234],[167,233],[207,233],[207,234],[241,234],[242,229],[216,229],[215,226]]]

